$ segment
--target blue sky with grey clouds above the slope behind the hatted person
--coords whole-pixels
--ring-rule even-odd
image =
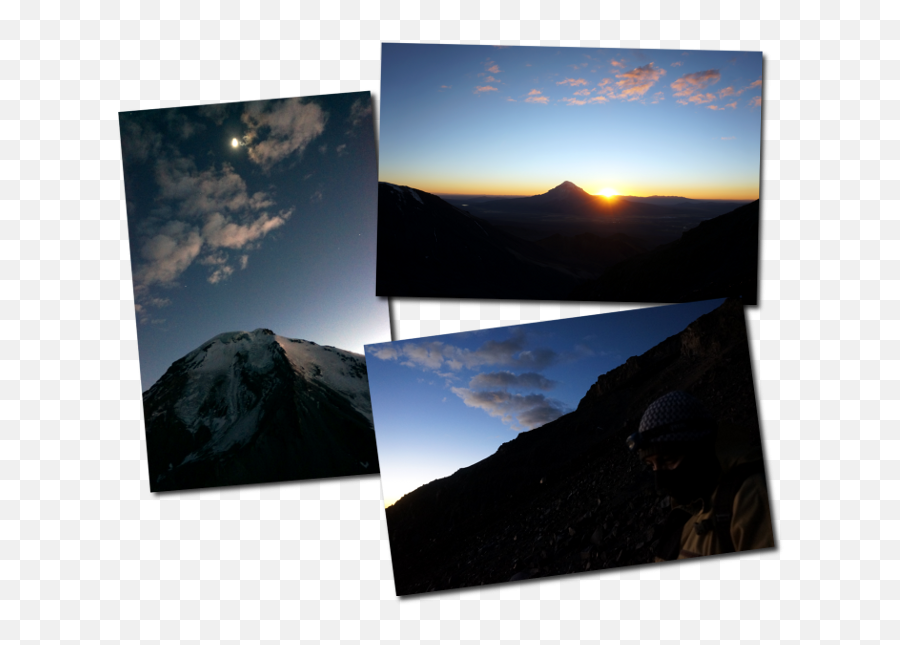
[[[385,506],[578,406],[722,300],[366,346]]]

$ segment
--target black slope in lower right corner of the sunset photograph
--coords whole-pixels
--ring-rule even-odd
[[[669,244],[624,260],[568,296],[584,300],[690,302],[740,296],[757,303],[759,200],[701,222]]]

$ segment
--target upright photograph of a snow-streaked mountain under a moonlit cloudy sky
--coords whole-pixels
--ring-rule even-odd
[[[377,474],[369,92],[119,126],[150,489]]]

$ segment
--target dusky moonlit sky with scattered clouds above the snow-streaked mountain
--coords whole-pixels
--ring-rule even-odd
[[[223,332],[390,339],[368,92],[123,112],[120,129],[143,389]]]

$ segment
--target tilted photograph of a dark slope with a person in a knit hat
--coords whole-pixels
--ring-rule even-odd
[[[775,546],[737,299],[366,356],[398,595]]]

